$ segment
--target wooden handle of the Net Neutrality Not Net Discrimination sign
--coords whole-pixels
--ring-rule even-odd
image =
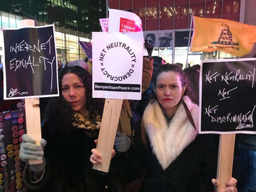
[[[222,191],[225,188],[225,183],[232,177],[234,146],[235,134],[220,135],[217,168],[217,180],[219,185],[216,192]]]

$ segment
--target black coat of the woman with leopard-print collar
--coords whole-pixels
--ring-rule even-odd
[[[32,183],[26,166],[24,180],[28,189],[37,192],[123,192],[126,179],[118,172],[122,167],[122,154],[114,156],[107,174],[92,169],[91,149],[96,148],[94,140],[98,133],[99,129],[77,127],[69,133],[52,133],[47,122],[44,123],[45,173],[41,181]]]

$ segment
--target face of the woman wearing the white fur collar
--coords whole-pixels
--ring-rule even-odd
[[[181,95],[186,86],[182,87],[180,75],[173,71],[162,72],[156,79],[156,87],[153,87],[163,111],[171,117],[175,114]]]

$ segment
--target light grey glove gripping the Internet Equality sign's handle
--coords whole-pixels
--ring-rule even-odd
[[[40,146],[41,145],[41,146]],[[43,160],[42,163],[30,165],[33,172],[42,172],[46,161],[44,158],[44,146],[46,140],[41,139],[40,145],[36,145],[36,141],[27,134],[22,135],[22,144],[20,146],[20,159],[28,163],[28,159]]]

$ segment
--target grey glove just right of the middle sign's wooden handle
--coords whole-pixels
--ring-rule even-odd
[[[114,141],[114,148],[118,151],[118,152],[126,152],[128,151],[128,149],[130,148],[130,138],[127,137],[125,134],[121,133],[121,132],[117,132],[116,133],[116,138]]]

